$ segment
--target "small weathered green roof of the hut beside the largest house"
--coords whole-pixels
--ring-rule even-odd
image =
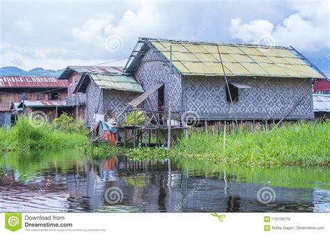
[[[74,92],[86,92],[90,79],[103,89],[125,90],[143,93],[142,86],[134,79],[134,76],[127,74],[93,74],[87,73],[81,77]]]

